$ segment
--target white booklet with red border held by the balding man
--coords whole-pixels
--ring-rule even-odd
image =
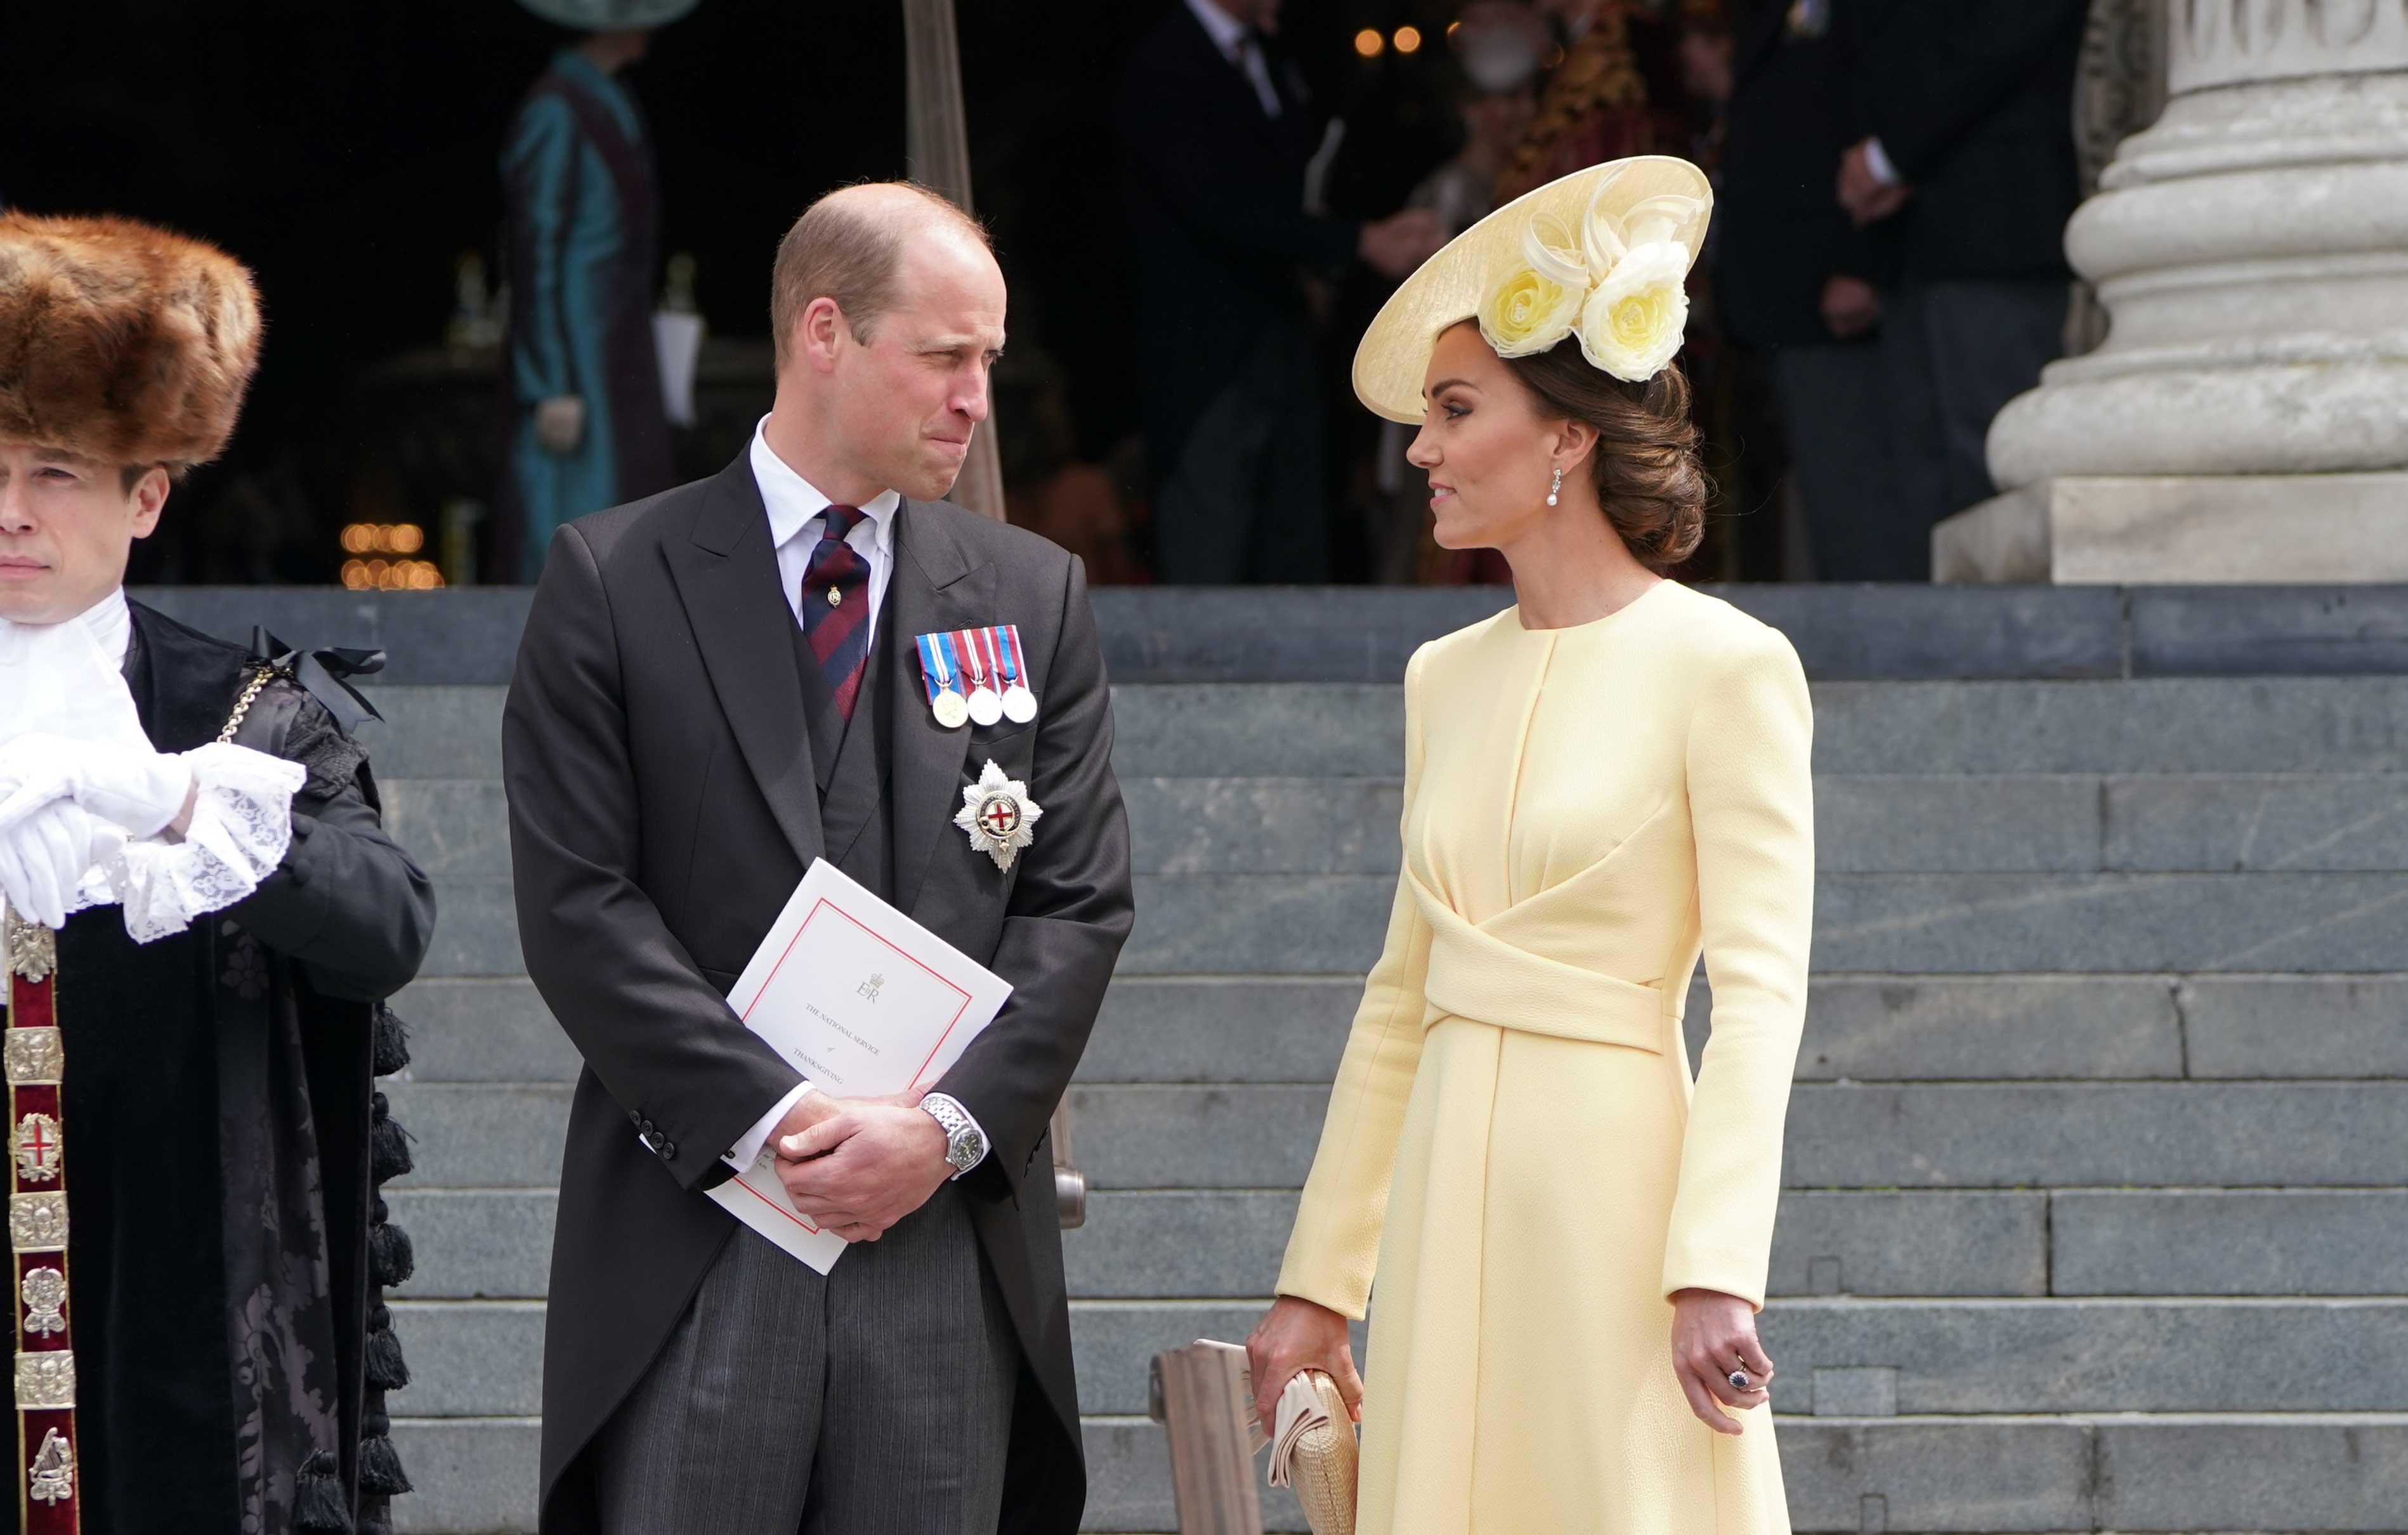
[[[814,859],[727,1006],[821,1092],[884,1097],[932,1087],[1007,996],[1011,982]],[[710,1198],[819,1273],[845,1254],[785,1196],[775,1140]]]

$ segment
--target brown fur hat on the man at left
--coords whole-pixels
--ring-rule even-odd
[[[260,296],[214,245],[132,219],[0,214],[0,440],[205,464],[260,366]]]

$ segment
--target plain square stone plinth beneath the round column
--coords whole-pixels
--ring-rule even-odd
[[[2068,474],[1931,529],[1936,582],[2408,582],[2408,472]]]

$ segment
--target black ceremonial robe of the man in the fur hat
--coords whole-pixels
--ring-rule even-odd
[[[214,741],[248,652],[132,618],[152,743]],[[407,1489],[380,1285],[409,1251],[376,1198],[407,1150],[373,1075],[400,1066],[380,1003],[426,955],[433,890],[383,832],[366,753],[299,683],[262,688],[236,743],[308,768],[284,864],[157,943],[120,907],[58,936],[87,1535],[371,1535]]]

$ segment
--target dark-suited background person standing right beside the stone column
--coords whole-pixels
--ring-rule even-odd
[[[1857,125],[1837,197],[1898,238],[1881,351],[1895,440],[1895,570],[1931,577],[1931,524],[1996,493],[1989,421],[2064,351],[2064,236],[2081,176],[2083,0],[1832,0]]]

